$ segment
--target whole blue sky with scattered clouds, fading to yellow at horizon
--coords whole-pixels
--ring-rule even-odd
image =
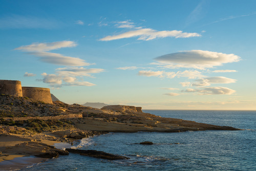
[[[2,1],[0,79],[66,103],[256,110],[255,1]]]

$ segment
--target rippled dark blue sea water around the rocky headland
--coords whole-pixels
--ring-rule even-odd
[[[256,170],[256,111],[143,112],[243,130],[109,133],[82,139],[76,145],[131,159],[111,161],[70,154],[22,170]],[[159,144],[135,144],[142,141]]]

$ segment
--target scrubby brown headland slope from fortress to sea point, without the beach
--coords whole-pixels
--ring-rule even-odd
[[[68,117],[70,115],[72,117]],[[56,120],[58,116],[61,116],[60,118],[62,116],[67,117],[58,121],[58,119]],[[33,130],[34,126],[34,131],[37,132],[67,128],[79,128],[81,130],[100,132],[236,130],[228,126],[216,126],[182,119],[162,118],[149,113],[143,113],[140,107],[135,106],[108,105],[102,109],[96,109],[80,104],[70,105],[60,101],[49,104],[26,97],[14,97],[10,95],[0,96],[0,117],[2,118],[0,122],[2,125],[18,125],[25,128],[28,127],[29,130]],[[49,120],[38,117],[49,117]],[[33,118],[36,121],[31,121]],[[35,123],[30,124],[30,122]],[[52,126],[49,126],[49,124]]]

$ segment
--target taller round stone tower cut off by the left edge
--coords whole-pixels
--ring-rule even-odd
[[[22,97],[22,82],[17,80],[0,80],[0,94]]]

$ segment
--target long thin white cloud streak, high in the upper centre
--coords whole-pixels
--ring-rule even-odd
[[[178,30],[172,31],[157,31],[153,29],[138,29],[127,31],[121,34],[106,36],[101,38],[101,41],[110,41],[117,40],[122,38],[131,38],[131,37],[139,37],[138,40],[152,40],[155,38],[164,38],[164,37],[175,37],[175,38],[187,38],[187,37],[199,37],[201,34],[199,33],[186,33]]]

